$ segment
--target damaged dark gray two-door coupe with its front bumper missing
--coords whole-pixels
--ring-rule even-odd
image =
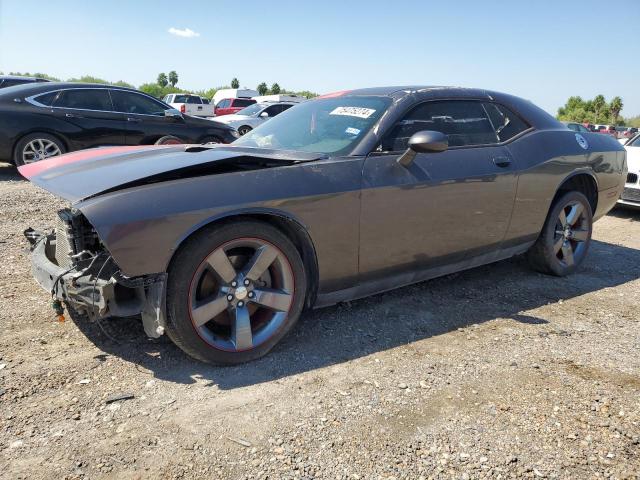
[[[304,307],[525,252],[568,275],[627,173],[608,135],[460,88],[339,92],[230,146],[133,148],[20,168],[72,204],[27,232],[36,279],[224,363],[264,355]]]

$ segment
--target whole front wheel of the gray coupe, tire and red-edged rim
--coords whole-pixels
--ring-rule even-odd
[[[271,350],[298,320],[307,290],[300,254],[255,221],[214,225],[171,262],[167,334],[192,357],[241,363]]]

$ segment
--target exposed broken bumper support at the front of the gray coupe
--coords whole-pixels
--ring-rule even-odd
[[[166,273],[128,278],[115,265],[105,268],[112,263],[106,254],[63,269],[51,260],[55,258],[55,234],[29,229],[25,236],[32,245],[33,276],[53,298],[92,320],[141,315],[148,336],[157,338],[164,333]]]

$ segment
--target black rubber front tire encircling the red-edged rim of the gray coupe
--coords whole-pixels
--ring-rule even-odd
[[[276,315],[280,315],[280,323],[278,323],[277,326],[270,327],[273,328],[273,330],[267,332],[269,336],[265,337],[264,341],[261,341],[261,343],[257,345],[252,344],[250,348],[245,349],[235,347],[223,349],[216,346],[215,341],[220,338],[220,342],[226,341],[230,343],[231,333],[229,333],[229,338],[225,339],[224,333],[219,333],[219,331],[218,333],[211,333],[211,331],[212,328],[227,328],[229,332],[236,331],[233,325],[233,319],[237,318],[234,317],[234,315],[237,315],[236,308],[231,304],[225,304],[225,309],[221,310],[220,313],[216,313],[215,315],[217,316],[207,321],[207,323],[200,323],[200,326],[197,326],[197,322],[194,321],[195,314],[192,315],[194,312],[193,306],[197,300],[195,295],[193,295],[192,299],[192,294],[194,288],[201,288],[200,285],[204,283],[203,278],[205,278],[206,275],[212,275],[211,278],[217,278],[220,285],[224,285],[224,288],[229,288],[230,283],[224,283],[221,279],[222,277],[218,278],[218,276],[214,274],[214,272],[217,271],[215,268],[209,270],[209,266],[212,264],[210,258],[212,255],[215,255],[216,252],[223,251],[228,255],[225,256],[227,260],[234,259],[237,263],[237,265],[233,265],[236,269],[234,275],[236,275],[237,272],[240,272],[243,268],[246,269],[246,265],[250,262],[246,262],[243,267],[242,260],[238,260],[241,258],[241,255],[234,257],[232,254],[221,249],[233,244],[233,242],[246,240],[262,241],[271,247],[275,247],[278,253],[282,254],[281,257],[278,257],[277,262],[282,261],[282,264],[288,265],[287,275],[289,276],[288,278],[293,280],[293,283],[290,283],[290,285],[293,285],[293,288],[290,289],[292,290],[290,303],[288,304],[288,310],[283,310],[284,313],[275,313],[274,311],[273,318],[276,318]],[[231,252],[233,250],[230,249],[229,251]],[[257,251],[258,250],[256,250],[256,252]],[[251,257],[252,254],[248,253],[248,256]],[[252,259],[253,258],[255,257],[252,257]],[[205,267],[203,267],[203,265],[205,265]],[[266,267],[267,272],[269,271],[268,269],[276,268],[274,266],[276,262],[274,261],[269,265],[270,266]],[[199,274],[198,272],[204,273]],[[198,275],[201,276],[199,277]],[[265,273],[265,275],[269,275],[269,273]],[[275,274],[273,278],[275,278]],[[272,285],[268,287],[270,286]],[[247,287],[247,289],[248,288],[250,287]],[[258,292],[257,288],[258,287],[256,287],[255,292]],[[236,290],[239,290],[239,288]],[[217,291],[215,294],[217,296],[214,295],[211,298],[216,298],[216,301],[224,301],[225,297],[226,299],[233,297],[233,294],[231,294],[233,293],[232,291],[223,290],[222,287],[215,291]],[[225,293],[220,293],[221,291]],[[303,310],[306,293],[307,279],[300,254],[293,243],[278,229],[267,223],[258,221],[238,221],[223,225],[212,225],[187,239],[171,261],[167,281],[166,331],[169,338],[185,353],[203,362],[236,364],[255,360],[269,352],[295,325]],[[249,294],[249,298],[250,296],[251,293]],[[210,300],[206,300],[205,304],[207,302],[210,302]],[[234,302],[238,302],[238,299],[234,298]],[[245,301],[247,311],[250,310],[249,302],[250,300],[247,298]],[[238,305],[239,303],[236,303],[236,307]],[[255,307],[255,304],[252,305]],[[250,332],[252,339],[257,339],[261,335],[261,332],[254,323],[255,317],[259,317],[256,312],[261,312],[259,306],[254,313],[250,314],[251,318],[249,322],[251,322]],[[272,311],[266,309],[266,312],[268,315],[271,315]],[[226,326],[221,325],[220,321],[216,320],[220,319],[221,316],[226,318],[230,323]],[[213,327],[210,327],[210,325],[213,325]],[[269,326],[268,321],[266,325]],[[254,328],[256,328],[255,332]],[[262,334],[264,334],[264,331],[262,331]],[[218,335],[220,335],[220,337],[218,337]],[[237,345],[237,343],[235,343],[235,345]]]

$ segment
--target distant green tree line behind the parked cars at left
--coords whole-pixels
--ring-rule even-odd
[[[3,75],[2,72],[0,72],[0,75]],[[51,80],[52,82],[59,82],[61,81],[60,78],[56,78],[53,77],[51,75],[48,75],[46,73],[28,73],[28,72],[24,72],[24,73],[20,73],[20,72],[10,72],[9,75],[17,75],[17,76],[24,76],[24,77],[36,77],[36,78],[44,78],[46,80]],[[102,84],[106,84],[106,85],[116,85],[119,87],[127,87],[127,88],[136,88],[134,85],[132,85],[131,83],[125,82],[123,80],[118,80],[117,82],[111,82],[109,80],[105,80],[103,78],[97,78],[97,77],[93,77],[91,75],[84,75],[82,77],[78,77],[78,78],[69,78],[67,80],[65,80],[67,82],[82,82],[82,83],[102,83]],[[237,78],[233,78],[231,80],[231,84],[230,85],[223,85],[220,87],[215,87],[215,88],[209,88],[206,90],[185,90],[181,87],[178,87],[178,81],[179,81],[179,76],[178,73],[175,70],[172,70],[168,73],[159,73],[156,81],[155,82],[149,82],[149,83],[143,83],[142,85],[140,85],[138,87],[138,90],[140,90],[141,92],[144,92],[148,95],[151,95],[153,97],[156,98],[163,98],[165,95],[168,95],[170,93],[193,93],[195,95],[200,95],[201,97],[205,97],[205,98],[213,98],[213,96],[215,95],[215,93],[218,90],[221,90],[223,88],[240,88],[240,81]],[[266,82],[261,82],[256,88],[255,88],[258,93],[260,95],[269,95],[269,94],[294,94],[294,95],[298,95],[301,97],[306,97],[306,98],[312,98],[312,97],[316,97],[318,96],[317,93],[315,92],[311,92],[309,90],[302,90],[302,91],[292,91],[292,90],[286,90],[282,87],[280,87],[280,85],[276,82],[274,82],[271,87],[267,86]]]

